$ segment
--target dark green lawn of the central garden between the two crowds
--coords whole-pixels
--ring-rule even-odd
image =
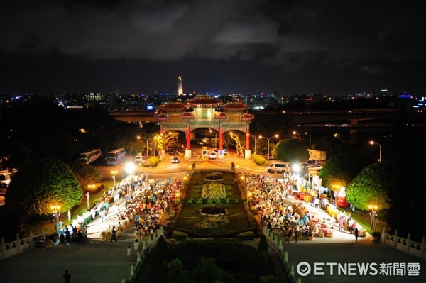
[[[202,196],[203,184],[209,182],[204,181],[206,174],[193,174],[188,184],[185,199],[182,201],[182,211],[176,221],[175,229],[182,231],[192,231],[200,236],[214,236],[231,235],[241,231],[250,229],[249,221],[244,211],[243,201],[241,200],[239,187],[234,184],[233,173],[223,173],[223,182],[220,182],[226,187],[226,198],[230,199],[229,204],[222,201],[221,204],[214,204],[227,210],[225,216],[203,216],[200,210],[206,206],[213,206],[213,204],[196,204],[197,199]],[[189,199],[193,199],[193,204],[187,204]],[[238,200],[234,204],[234,199]]]

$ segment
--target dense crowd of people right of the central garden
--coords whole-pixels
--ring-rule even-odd
[[[261,216],[261,223],[285,241],[312,240],[315,233],[332,236],[334,218],[317,218],[302,201],[290,201],[297,175],[285,173],[283,179],[270,174],[245,173],[248,201]]]

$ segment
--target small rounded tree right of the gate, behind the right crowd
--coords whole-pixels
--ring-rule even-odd
[[[309,158],[307,146],[294,138],[280,140],[273,149],[272,154],[276,159],[285,162],[301,162]]]

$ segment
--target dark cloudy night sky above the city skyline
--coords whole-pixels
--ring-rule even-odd
[[[0,4],[0,93],[425,94],[422,1]]]

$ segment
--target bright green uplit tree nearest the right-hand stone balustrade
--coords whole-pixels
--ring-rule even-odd
[[[351,182],[346,191],[346,200],[358,209],[368,210],[369,205],[378,210],[389,208],[388,192],[395,187],[385,165],[373,163],[365,167]]]

